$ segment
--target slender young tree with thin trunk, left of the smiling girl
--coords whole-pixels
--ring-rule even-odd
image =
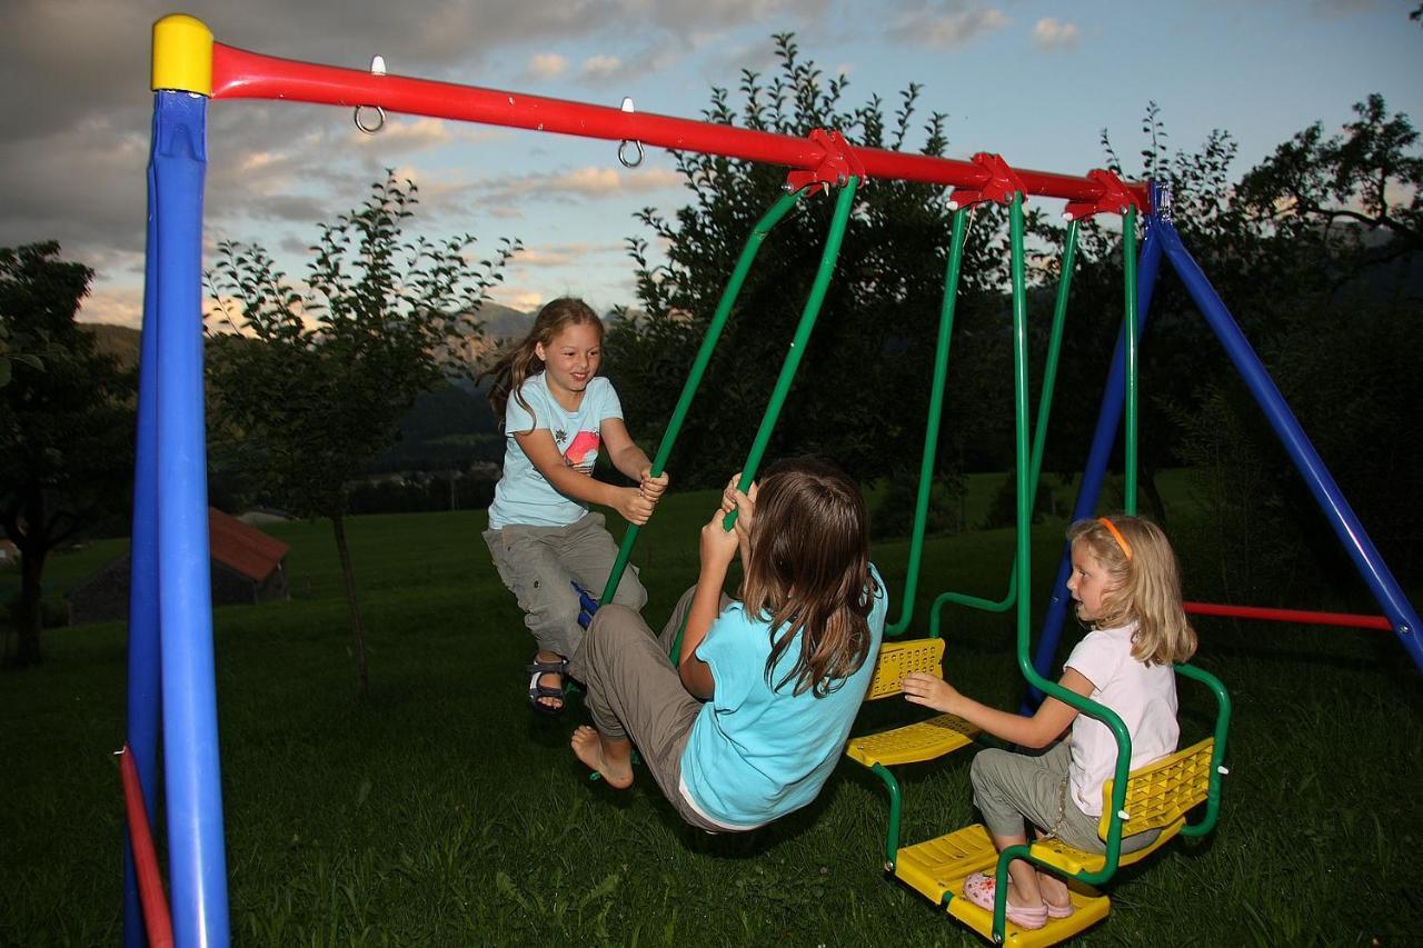
[[[320,225],[305,292],[256,245],[221,243],[209,273],[228,327],[213,332],[208,359],[213,443],[269,500],[332,521],[361,693],[350,483],[480,335],[480,305],[519,249],[501,241],[474,263],[470,235],[404,239],[416,191],[387,171],[361,206]]]

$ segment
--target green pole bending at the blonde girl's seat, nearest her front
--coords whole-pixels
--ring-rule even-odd
[[[1009,215],[1009,243],[1012,246],[1012,278],[1013,278],[1013,423],[1016,457],[1015,481],[1017,487],[1017,544],[1016,544],[1016,575],[1023,588],[1027,588],[1032,569],[1032,518],[1033,495],[1029,491],[1029,444],[1027,444],[1027,289],[1023,266],[1023,194],[1013,195],[1013,205]],[[1033,668],[1030,632],[1032,596],[1017,599],[1017,666],[1029,685],[1046,695],[1072,705],[1079,712],[1087,713],[1101,720],[1117,740],[1116,783],[1111,789],[1111,807],[1120,813],[1127,797],[1127,773],[1131,764],[1131,736],[1126,725],[1110,707],[1104,707],[1090,699],[1067,690],[1056,682],[1049,682]],[[1116,873],[1117,858],[1121,851],[1121,820],[1113,818],[1107,831],[1106,864],[1099,873],[1081,873],[1079,880],[1094,884],[1104,881]],[[1005,924],[1007,921],[1007,865],[1016,858],[1032,858],[1027,846],[1010,846],[998,857],[993,894],[993,941],[1003,942]]]

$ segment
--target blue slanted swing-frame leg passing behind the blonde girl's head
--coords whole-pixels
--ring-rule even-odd
[[[1148,223],[1153,218],[1147,218]],[[1147,236],[1141,242],[1141,258],[1137,263],[1137,335],[1147,325],[1147,312],[1151,309],[1151,290],[1155,288],[1157,270],[1161,266],[1161,242],[1151,226],[1147,226]],[[1126,325],[1123,325],[1123,330]],[[1117,333],[1117,347],[1111,354],[1111,369],[1107,373],[1107,389],[1101,394],[1101,410],[1097,413],[1097,430],[1091,436],[1091,450],[1087,453],[1087,463],[1083,465],[1081,485],[1077,488],[1077,504],[1073,507],[1074,521],[1091,517],[1097,510],[1097,498],[1101,494],[1101,483],[1107,474],[1107,463],[1111,460],[1111,448],[1117,443],[1117,428],[1121,424],[1121,414],[1126,406],[1126,342],[1124,332]],[[1053,581],[1052,598],[1047,601],[1047,613],[1043,616],[1043,633],[1037,639],[1037,651],[1033,653],[1033,668],[1047,678],[1053,659],[1057,655],[1057,642],[1062,638],[1063,619],[1072,595],[1067,592],[1067,579],[1072,575],[1072,548],[1063,544],[1063,558],[1057,567],[1057,578]],[[1042,692],[1036,688],[1027,690],[1022,710],[1029,713],[1032,706],[1042,700]]]

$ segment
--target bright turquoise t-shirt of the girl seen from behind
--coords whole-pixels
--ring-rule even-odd
[[[727,828],[751,828],[798,810],[820,793],[865,700],[884,636],[889,596],[874,565],[869,575],[877,585],[869,653],[825,697],[811,689],[795,695],[794,680],[771,690],[795,666],[798,635],[781,652],[768,685],[767,619],[747,616],[733,602],[707,629],[696,653],[712,666],[716,692],[702,706],[682,752],[682,787],[702,816]]]

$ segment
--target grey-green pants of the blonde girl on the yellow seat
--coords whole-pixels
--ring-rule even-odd
[[[1040,754],[1015,754],[1007,750],[980,750],[973,757],[969,780],[973,781],[973,806],[983,814],[983,826],[993,836],[1023,836],[1033,826],[1056,836],[1067,846],[1089,853],[1106,853],[1097,836],[1097,817],[1087,816],[1072,800],[1067,767],[1072,747],[1059,740]],[[1150,846],[1160,830],[1121,837],[1121,851],[1133,853]]]

